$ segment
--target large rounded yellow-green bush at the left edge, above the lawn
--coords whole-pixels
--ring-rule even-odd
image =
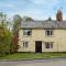
[[[11,33],[0,25],[0,56],[10,53]]]

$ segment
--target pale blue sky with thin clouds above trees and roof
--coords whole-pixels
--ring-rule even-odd
[[[31,16],[35,20],[55,19],[57,10],[66,19],[66,0],[0,0],[0,12],[13,16]]]

